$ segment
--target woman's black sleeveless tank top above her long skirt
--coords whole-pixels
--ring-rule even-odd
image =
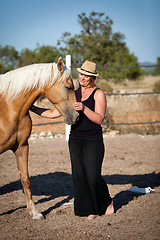
[[[82,103],[90,108],[92,111],[95,109],[94,94],[98,88],[94,89],[91,95]],[[80,116],[76,124],[72,124],[71,138],[82,138],[92,140],[102,140],[102,127],[100,124],[92,122],[84,113],[80,111]]]

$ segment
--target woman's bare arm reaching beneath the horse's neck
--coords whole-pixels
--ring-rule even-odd
[[[52,109],[46,109],[46,108],[39,108],[33,105],[30,110],[36,113],[37,115],[45,118],[53,119],[61,116],[61,113],[56,108],[52,110]]]

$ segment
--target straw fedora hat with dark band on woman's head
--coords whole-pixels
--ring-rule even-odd
[[[77,68],[78,72],[88,75],[88,76],[98,76],[98,73],[96,72],[96,63],[90,62],[86,60],[81,68]]]

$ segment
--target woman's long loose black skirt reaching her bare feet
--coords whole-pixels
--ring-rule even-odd
[[[107,184],[101,176],[103,140],[70,138],[69,150],[75,215],[103,215],[112,201]]]

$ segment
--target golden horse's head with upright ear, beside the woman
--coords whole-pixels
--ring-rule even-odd
[[[76,97],[71,71],[64,66],[61,57],[58,59],[57,69],[59,72],[58,79],[51,87],[46,89],[45,95],[64,116],[65,122],[70,125],[75,123],[79,116],[73,108]],[[54,72],[52,77],[54,77]]]

